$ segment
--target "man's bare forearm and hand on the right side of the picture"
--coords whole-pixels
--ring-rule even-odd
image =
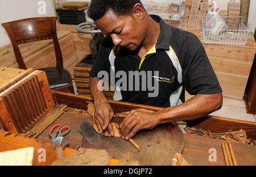
[[[179,106],[168,107],[154,113],[130,111],[123,119],[120,127],[120,136],[129,140],[141,129],[152,129],[156,125],[181,120],[196,120],[209,113],[217,111],[222,106],[222,94],[193,96]]]

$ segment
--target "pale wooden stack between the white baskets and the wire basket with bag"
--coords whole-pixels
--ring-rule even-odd
[[[202,16],[208,11],[207,0],[188,0],[185,6],[185,15],[183,19],[182,29],[201,30]]]

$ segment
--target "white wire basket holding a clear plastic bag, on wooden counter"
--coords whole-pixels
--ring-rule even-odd
[[[203,16],[203,32],[201,32],[201,41],[205,44],[245,45],[250,31],[247,29],[245,24],[243,24],[243,17],[221,16],[221,18],[225,20],[228,26],[229,22],[232,22],[233,19],[238,20],[237,27],[229,26],[228,29],[205,29],[205,16]]]

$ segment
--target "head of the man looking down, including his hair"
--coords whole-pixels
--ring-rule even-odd
[[[88,16],[114,45],[136,50],[146,35],[147,13],[139,0],[92,0]]]

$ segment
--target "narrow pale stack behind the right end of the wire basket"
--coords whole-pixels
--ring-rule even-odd
[[[240,16],[240,2],[229,2],[228,3],[228,16]],[[238,24],[240,23],[240,18],[228,18],[226,23],[229,29],[238,29]]]

